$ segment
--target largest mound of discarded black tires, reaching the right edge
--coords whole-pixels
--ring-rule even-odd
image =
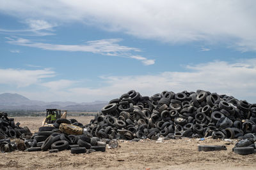
[[[233,139],[255,134],[256,104],[205,90],[151,97],[131,90],[109,101],[84,127],[100,139]]]

